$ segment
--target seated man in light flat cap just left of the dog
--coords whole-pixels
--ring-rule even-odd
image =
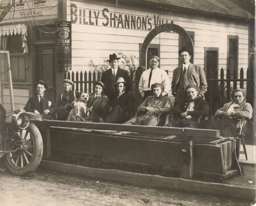
[[[57,100],[57,120],[67,120],[69,113],[73,106],[71,103],[80,97],[80,92],[73,91],[72,86],[74,83],[71,80],[63,80],[63,94]]]

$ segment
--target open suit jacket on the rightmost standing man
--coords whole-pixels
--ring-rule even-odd
[[[172,80],[172,94],[175,96],[177,93],[177,84],[180,79],[180,72],[182,71],[182,66],[178,66],[174,69],[173,72],[173,80]],[[204,93],[207,91],[207,81],[205,77],[204,69],[198,65],[191,64],[189,65],[188,71],[185,73],[185,81],[184,81],[184,88],[187,85],[197,85],[200,89],[200,94],[203,96]]]

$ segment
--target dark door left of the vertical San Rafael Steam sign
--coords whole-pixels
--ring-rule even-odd
[[[55,45],[36,47],[36,82],[43,80],[48,89],[46,94],[56,97],[56,53]]]

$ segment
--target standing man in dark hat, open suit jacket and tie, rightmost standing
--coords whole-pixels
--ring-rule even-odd
[[[207,91],[207,81],[204,69],[198,65],[191,64],[193,53],[187,47],[179,50],[182,65],[174,69],[172,80],[172,94],[175,97],[174,106],[183,105],[186,102],[185,88],[187,85],[197,85],[199,87],[199,95],[204,99],[204,93]]]

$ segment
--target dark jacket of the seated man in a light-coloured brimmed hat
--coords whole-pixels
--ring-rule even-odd
[[[114,108],[119,105],[123,111],[132,111],[134,109],[134,104],[132,101],[132,97],[126,92],[122,93],[119,97],[116,95],[111,99],[108,105],[106,105],[106,111],[109,111],[110,108]]]

